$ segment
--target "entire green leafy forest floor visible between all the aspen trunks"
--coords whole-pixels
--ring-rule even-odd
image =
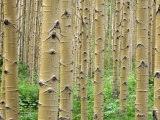
[[[113,99],[112,92],[112,69],[105,69],[104,73],[104,120],[134,120],[136,99],[136,75],[135,70],[128,79],[127,112],[119,116],[119,99]],[[2,64],[0,64],[0,76]],[[34,74],[34,84],[29,85],[28,69],[19,64],[19,98],[20,98],[20,120],[38,120],[38,85],[37,74]],[[0,78],[1,80],[1,78]],[[88,79],[88,120],[93,120],[93,78]],[[149,101],[148,120],[152,119],[153,107],[153,77],[149,77]],[[73,93],[73,120],[80,120],[80,100],[77,99],[76,85]]]

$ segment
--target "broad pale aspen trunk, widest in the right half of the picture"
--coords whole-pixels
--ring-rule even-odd
[[[135,119],[148,118],[148,0],[137,0]]]

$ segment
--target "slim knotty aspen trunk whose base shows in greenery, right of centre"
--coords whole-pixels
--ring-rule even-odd
[[[113,97],[118,98],[118,65],[119,65],[119,51],[120,51],[120,37],[121,37],[121,0],[116,0],[115,13],[115,30],[113,40]]]

